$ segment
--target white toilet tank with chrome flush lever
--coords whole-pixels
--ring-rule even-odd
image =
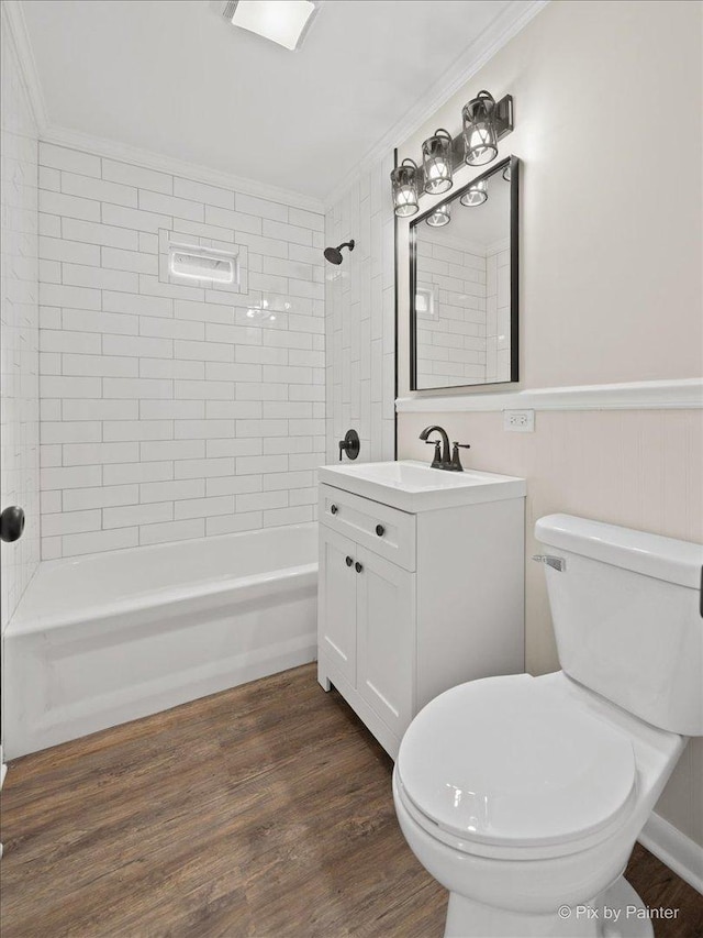
[[[660,729],[703,735],[703,545],[571,515],[535,537],[559,662],[574,681]]]

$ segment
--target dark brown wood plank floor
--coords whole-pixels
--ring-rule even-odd
[[[313,665],[16,760],[2,938],[440,938],[446,893],[395,823],[392,763]],[[703,936],[701,896],[628,878]]]

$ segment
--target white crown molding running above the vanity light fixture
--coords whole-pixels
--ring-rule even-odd
[[[442,78],[417,99],[413,107],[373,144],[358,165],[332,189],[324,199],[325,208],[330,209],[336,205],[362,173],[391,153],[394,147],[402,145],[548,3],[549,0],[512,0],[510,5],[461,53]]]

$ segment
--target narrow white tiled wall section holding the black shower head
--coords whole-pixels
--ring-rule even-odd
[[[325,217],[328,245],[356,241],[350,254],[344,250],[341,266],[325,264],[328,462],[339,459],[339,440],[352,428],[361,442],[359,460],[394,457],[392,168],[390,157],[361,173]]]

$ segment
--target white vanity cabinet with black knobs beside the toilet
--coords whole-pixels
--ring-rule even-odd
[[[365,472],[373,465],[403,464]],[[471,485],[466,474],[449,495],[404,501],[370,488],[408,511],[358,494],[364,485],[349,492],[359,481],[349,470],[320,471],[319,680],[394,758],[437,694],[524,670],[525,484],[475,474],[483,483]],[[435,478],[427,485],[448,485]]]

